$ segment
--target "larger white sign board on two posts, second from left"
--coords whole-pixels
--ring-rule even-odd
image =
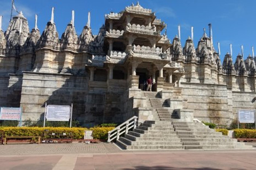
[[[47,121],[69,121],[70,106],[48,105],[46,109]]]

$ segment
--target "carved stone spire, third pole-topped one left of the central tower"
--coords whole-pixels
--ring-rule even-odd
[[[37,42],[37,48],[50,47],[53,49],[59,48],[59,34],[56,30],[55,23],[48,22],[42,36]]]

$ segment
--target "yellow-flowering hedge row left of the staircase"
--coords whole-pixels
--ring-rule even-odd
[[[63,138],[63,133],[66,133],[65,137],[73,135],[73,139],[84,139],[84,131],[92,130],[94,139],[107,139],[108,131],[113,130],[110,128],[39,128],[39,127],[0,127],[6,136],[44,136],[45,138],[52,138],[51,134],[55,133],[54,138]]]

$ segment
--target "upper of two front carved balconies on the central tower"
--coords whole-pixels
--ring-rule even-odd
[[[144,35],[154,35],[154,36],[160,36],[160,31],[156,31],[156,27],[153,25],[153,27],[149,27],[148,25],[139,25],[139,24],[127,24],[126,25],[126,31],[132,32],[132,33],[139,33]]]

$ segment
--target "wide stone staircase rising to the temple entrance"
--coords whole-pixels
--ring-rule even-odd
[[[144,92],[154,121],[145,121],[116,141],[122,149],[252,149],[201,122],[180,122],[157,92]]]

